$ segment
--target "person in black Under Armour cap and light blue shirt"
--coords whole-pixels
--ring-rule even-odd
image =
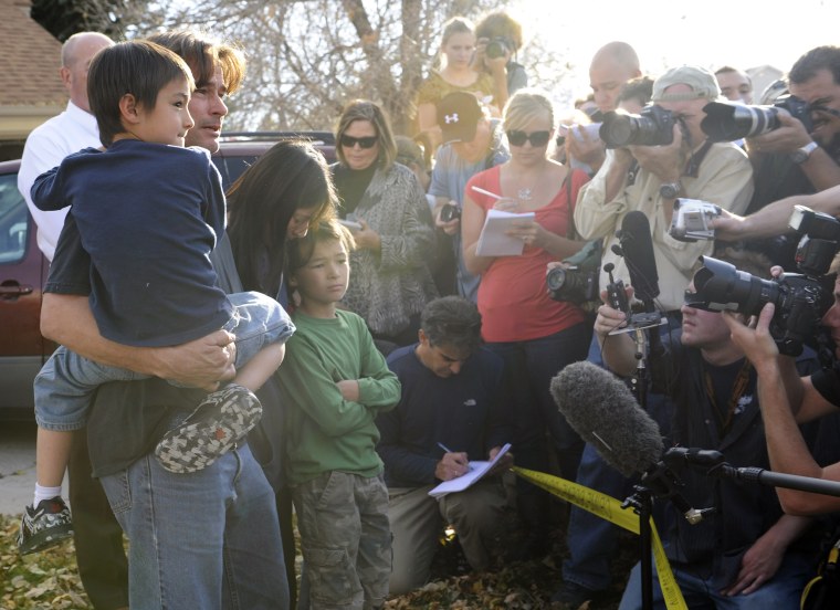
[[[476,302],[479,277],[466,271],[461,249],[461,207],[466,182],[475,173],[501,165],[510,158],[502,122],[490,118],[471,93],[450,93],[438,104],[443,144],[438,148],[429,194],[437,203],[433,211],[438,229],[452,238],[458,269],[458,294]]]

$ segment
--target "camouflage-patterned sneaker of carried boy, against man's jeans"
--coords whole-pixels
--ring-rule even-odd
[[[208,395],[181,425],[164,434],[155,455],[169,472],[200,471],[235,446],[261,416],[253,392],[231,383]]]

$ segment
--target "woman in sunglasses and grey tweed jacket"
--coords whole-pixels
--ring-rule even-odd
[[[357,248],[343,303],[365,318],[376,339],[408,345],[417,340],[420,312],[438,296],[427,266],[434,230],[426,193],[414,173],[395,162],[390,124],[372,102],[344,108],[336,152],[338,215],[355,223]]]

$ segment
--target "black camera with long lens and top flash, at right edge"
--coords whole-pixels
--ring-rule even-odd
[[[800,273],[762,280],[734,265],[701,256],[703,266],[694,274],[696,293],[685,295],[691,307],[721,312],[731,309],[757,315],[766,303],[776,305],[770,334],[779,353],[798,356],[833,303],[834,275],[828,275],[840,250],[840,221],[829,214],[796,206],[789,227],[800,235],[796,251]]]

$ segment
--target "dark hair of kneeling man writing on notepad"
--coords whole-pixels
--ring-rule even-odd
[[[482,343],[479,308],[461,296],[431,301],[420,314],[420,328],[430,345],[445,345],[472,354]]]

